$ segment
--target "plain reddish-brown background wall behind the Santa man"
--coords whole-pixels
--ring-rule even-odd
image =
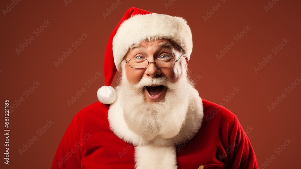
[[[301,84],[293,85],[295,88],[290,93],[286,88],[301,74],[300,1],[157,0],[146,3],[122,0],[116,8],[112,7],[116,2],[76,0],[66,6],[63,0],[20,1],[11,5],[14,7],[5,16],[3,10],[13,2],[0,2],[1,105],[4,107],[6,99],[11,106],[20,97],[24,99],[10,111],[9,165],[4,164],[4,131],[1,133],[1,168],[51,167],[55,151],[73,116],[98,101],[96,91],[105,84],[103,62],[108,39],[130,7],[185,18],[194,42],[189,68],[200,96],[217,104],[223,103],[236,114],[246,132],[253,128],[247,135],[259,166],[265,163],[268,164],[266,168],[271,169],[299,168]],[[270,4],[272,8],[266,12],[264,6],[269,2],[276,4]],[[221,7],[205,22],[202,16],[217,3],[221,3]],[[103,13],[110,7],[113,11],[104,18]],[[34,31],[44,20],[51,23],[36,36]],[[236,42],[233,38],[244,30],[244,26],[251,29]],[[89,36],[73,49],[72,43],[85,32]],[[18,55],[16,49],[30,36],[34,40]],[[289,42],[280,46],[282,49],[274,55],[272,49],[281,44],[283,38]],[[218,61],[216,54],[232,41],[235,45]],[[58,57],[69,48],[73,52],[55,67],[54,62],[58,62]],[[269,54],[273,58],[256,73],[254,67]],[[88,88],[85,83],[96,71],[102,75]],[[34,81],[38,81],[39,86],[26,95]],[[67,100],[83,87],[85,92],[69,106]],[[232,95],[234,87],[240,91]],[[286,97],[269,112],[267,107],[282,93]],[[224,99],[227,95],[234,96],[228,103]],[[1,124],[4,123],[3,107]],[[47,130],[38,135],[37,130],[43,129],[47,120],[54,123],[49,128],[44,127]],[[6,129],[4,124],[1,129]],[[20,155],[19,149],[34,136],[37,140]],[[275,149],[284,145],[285,139],[292,142],[282,146],[284,150],[279,151],[280,154],[276,153]],[[276,158],[266,162],[272,155]]]

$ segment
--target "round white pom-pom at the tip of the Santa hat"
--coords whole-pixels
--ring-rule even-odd
[[[97,91],[97,97],[103,104],[112,104],[116,100],[117,94],[112,86],[102,86]]]

